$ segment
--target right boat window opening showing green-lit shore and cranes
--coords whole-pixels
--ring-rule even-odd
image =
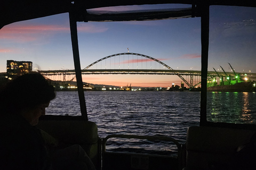
[[[207,121],[256,122],[256,8],[210,6]]]

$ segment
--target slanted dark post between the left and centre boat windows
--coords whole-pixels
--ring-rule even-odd
[[[80,65],[80,58],[79,58],[77,26],[76,26],[75,16],[73,15],[73,13],[69,13],[69,22],[70,22],[71,41],[72,41],[72,48],[73,48],[73,57],[74,57],[80,109],[81,109],[82,117],[87,121],[88,117],[87,117],[86,104],[85,104],[85,98],[84,98],[83,80],[82,80],[82,72],[81,72],[81,65]]]

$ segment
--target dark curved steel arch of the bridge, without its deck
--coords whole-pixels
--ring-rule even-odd
[[[107,56],[107,57],[103,57],[103,58],[101,58],[100,60],[97,60],[97,61],[93,62],[92,64],[86,66],[83,70],[86,70],[86,69],[88,69],[89,67],[93,66],[94,64],[97,64],[97,63],[99,63],[100,61],[106,60],[107,58],[115,57],[115,56],[119,56],[119,55],[137,55],[137,56],[142,56],[142,57],[149,58],[150,60],[153,60],[153,61],[155,61],[155,62],[157,62],[157,63],[162,64],[163,66],[165,66],[165,67],[166,67],[167,69],[169,69],[169,70],[173,70],[169,65],[164,64],[163,62],[157,60],[156,58],[153,58],[153,57],[150,57],[150,56],[147,56],[147,55],[143,55],[143,54],[138,54],[138,53],[118,53],[118,54],[109,55],[109,56]],[[175,73],[175,74],[178,75],[178,77],[179,77],[182,81],[184,81],[184,82],[189,86],[189,88],[192,87],[191,84],[187,82],[187,80],[185,80],[181,75],[179,75],[179,73]]]

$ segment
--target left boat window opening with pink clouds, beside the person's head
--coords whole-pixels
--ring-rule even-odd
[[[32,62],[29,70],[39,71],[51,81],[57,97],[46,108],[46,115],[81,116],[68,13],[5,25],[0,30],[0,46],[1,75],[12,79]],[[7,61],[19,67],[6,70]]]

